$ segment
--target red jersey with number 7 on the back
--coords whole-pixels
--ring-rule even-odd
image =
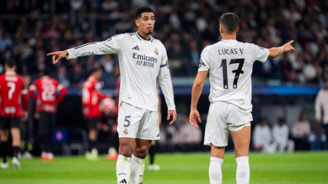
[[[27,90],[24,90],[22,77],[13,71],[0,75],[0,115],[2,117],[19,118],[22,116],[21,95],[24,111],[27,111],[28,96]]]

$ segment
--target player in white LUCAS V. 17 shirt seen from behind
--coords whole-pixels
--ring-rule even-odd
[[[222,40],[204,48],[197,76],[192,87],[190,123],[198,128],[201,122],[197,103],[204,80],[210,73],[211,102],[205,129],[204,144],[211,146],[209,177],[211,184],[222,183],[221,165],[229,131],[235,145],[237,184],[249,183],[248,147],[252,121],[251,72],[254,61],[264,62],[284,52],[294,52],[293,41],[278,48],[264,49],[236,40],[239,18],[234,13],[220,17]]]

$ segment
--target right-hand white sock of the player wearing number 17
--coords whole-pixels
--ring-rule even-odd
[[[237,157],[237,184],[249,184],[249,164],[248,157]]]

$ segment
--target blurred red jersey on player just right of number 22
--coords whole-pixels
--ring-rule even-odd
[[[100,117],[99,110],[100,101],[105,97],[100,92],[101,85],[94,78],[89,77],[82,87],[82,113],[84,118],[90,119]]]

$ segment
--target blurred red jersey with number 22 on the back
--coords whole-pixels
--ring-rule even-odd
[[[29,94],[37,101],[38,112],[56,113],[57,104],[67,95],[67,89],[56,79],[43,76],[29,87]]]

